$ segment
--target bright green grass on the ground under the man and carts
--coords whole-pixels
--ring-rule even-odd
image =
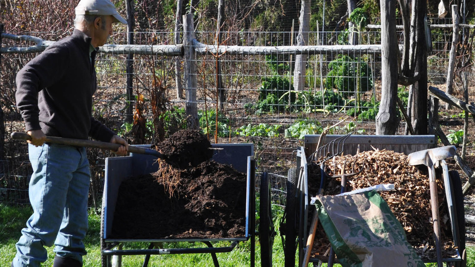
[[[276,231],[282,218],[283,210],[279,206],[273,206],[273,216]],[[20,230],[31,214],[31,208],[28,206],[9,206],[0,203],[0,266],[9,267],[11,260],[15,256],[15,243],[20,237]],[[87,255],[84,257],[84,267],[100,267],[100,248],[99,248],[100,216],[93,211],[89,213],[89,231],[84,240]],[[218,242],[213,246],[228,246],[228,242]],[[124,249],[144,249],[146,243],[125,243]],[[180,242],[164,243],[165,248],[188,248],[204,247],[203,244]],[[53,248],[47,248],[48,260],[43,266],[53,265]],[[277,232],[273,247],[273,266],[284,266],[284,252],[282,241]],[[467,267],[475,267],[475,247],[467,247]],[[144,256],[124,256],[123,267],[142,266]],[[241,267],[250,266],[250,241],[239,242],[237,247],[228,253],[218,253],[218,262],[221,267]],[[258,238],[256,238],[256,266],[260,266],[260,247]],[[152,255],[149,267],[168,267],[168,266],[193,266],[209,267],[213,266],[213,261],[209,254],[181,254],[181,255]],[[296,264],[297,266],[297,264]],[[326,264],[323,264],[325,267]],[[340,265],[335,265],[340,266]],[[428,267],[435,267],[436,264],[428,264]]]

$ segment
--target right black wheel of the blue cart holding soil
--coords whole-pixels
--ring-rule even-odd
[[[259,204],[259,242],[261,244],[261,267],[272,267],[272,245],[274,244],[274,222],[272,221],[271,184],[264,172],[261,176]]]

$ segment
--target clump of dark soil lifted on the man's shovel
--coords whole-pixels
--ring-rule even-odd
[[[208,139],[196,130],[180,130],[155,144],[155,149],[165,156],[168,163],[180,169],[196,166],[213,156]]]

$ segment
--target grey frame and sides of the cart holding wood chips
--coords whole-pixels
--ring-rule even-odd
[[[323,140],[323,144],[328,143],[342,135],[327,135]],[[281,229],[285,227],[286,235],[292,238],[296,236],[297,245],[296,249],[299,257],[299,266],[302,265],[304,257],[304,242],[306,242],[308,237],[308,212],[312,208],[312,205],[309,205],[309,192],[308,192],[308,171],[307,171],[307,155],[311,155],[315,150],[320,138],[319,134],[305,135],[304,137],[304,147],[299,147],[296,150],[296,168],[295,170],[289,170],[289,176],[294,175],[293,178],[289,177],[288,181],[295,181],[293,185],[295,187],[295,196],[288,196],[290,198],[295,197],[296,206],[291,207],[287,210],[285,208],[286,216],[294,216],[295,218],[295,231],[294,233],[289,233],[291,226],[286,226],[284,222],[281,223]],[[398,153],[404,153],[408,155],[409,153],[435,148],[437,142],[434,135],[352,135],[350,136],[344,145],[343,154],[356,154],[359,151],[369,151],[373,147],[377,149],[387,149],[392,150]],[[456,198],[456,195],[461,193],[461,183],[460,176],[456,171],[448,171],[447,164],[445,161],[441,162],[441,167],[439,172],[443,173],[444,185],[447,195],[447,204],[450,212],[450,221],[452,226],[452,232],[454,236],[454,244],[460,247],[460,244],[463,242],[463,247],[465,248],[465,222],[464,219],[464,210],[463,210],[463,199],[460,202],[459,198]],[[298,179],[297,179],[298,178]],[[458,179],[458,180],[457,180]],[[292,186],[292,184],[288,185]],[[460,205],[462,206],[462,212],[460,212]],[[459,209],[457,210],[457,207]],[[295,210],[295,214],[292,210]],[[463,231],[463,235],[460,231]],[[286,237],[287,238],[287,237]],[[291,241],[286,240],[285,243],[291,243]],[[292,248],[291,248],[292,249]],[[457,256],[454,258],[444,258],[443,261],[446,262],[447,266],[456,266],[463,267],[465,266],[466,259],[462,256],[463,251],[457,249]],[[285,260],[285,267],[294,267],[295,266],[295,250],[286,251],[285,257],[290,259]],[[292,260],[293,259],[293,260]],[[310,262],[313,262],[314,265],[319,261],[324,261],[323,258],[311,258]],[[427,261],[435,262],[435,261]]]

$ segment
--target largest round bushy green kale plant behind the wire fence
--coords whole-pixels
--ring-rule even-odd
[[[360,77],[357,75],[357,66],[360,65]],[[339,56],[328,64],[328,72],[325,80],[325,87],[329,91],[338,91],[347,98],[356,93],[357,78],[359,78],[360,92],[366,92],[373,88],[371,68],[366,62],[361,62],[361,58]]]

